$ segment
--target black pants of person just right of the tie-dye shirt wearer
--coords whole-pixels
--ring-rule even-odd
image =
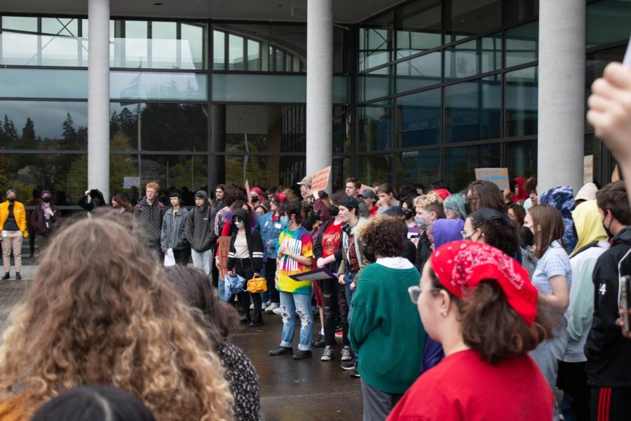
[[[351,342],[348,342],[348,303],[346,302],[344,285],[340,285],[335,279],[323,279],[320,282],[320,289],[322,290],[322,305],[325,313],[325,344],[335,346],[336,315],[339,310],[342,343],[350,346]]]

